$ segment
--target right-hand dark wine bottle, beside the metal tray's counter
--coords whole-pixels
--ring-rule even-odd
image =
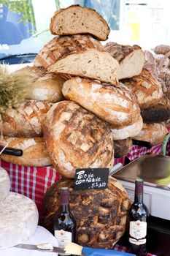
[[[128,243],[130,252],[138,256],[147,255],[147,217],[149,211],[143,203],[144,182],[135,181],[134,203],[128,211]]]

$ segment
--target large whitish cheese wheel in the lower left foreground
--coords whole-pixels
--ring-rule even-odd
[[[0,249],[21,244],[34,234],[38,211],[33,200],[9,192],[0,202]]]

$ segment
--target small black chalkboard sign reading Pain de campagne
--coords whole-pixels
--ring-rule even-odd
[[[77,169],[74,189],[106,189],[109,168]]]

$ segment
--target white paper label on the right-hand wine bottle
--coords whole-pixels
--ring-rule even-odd
[[[140,222],[139,220],[130,222],[129,234],[131,236],[129,238],[131,244],[146,244],[147,222]]]

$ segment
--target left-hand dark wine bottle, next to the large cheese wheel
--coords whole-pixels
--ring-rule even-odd
[[[54,236],[61,248],[65,248],[70,242],[76,242],[76,224],[69,210],[68,187],[61,188],[61,207],[54,218]]]

